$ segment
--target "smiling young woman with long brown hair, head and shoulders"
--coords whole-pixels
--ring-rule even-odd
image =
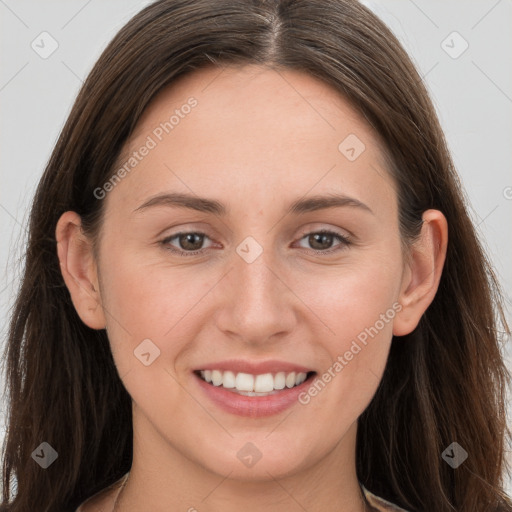
[[[499,287],[349,0],[161,0],[31,212],[1,511],[508,511]]]

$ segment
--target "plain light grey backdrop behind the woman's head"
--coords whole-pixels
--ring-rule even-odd
[[[148,3],[0,0],[0,350],[35,187],[82,81],[115,33]],[[391,27],[424,78],[510,318],[512,1],[363,3]],[[3,386],[2,376],[0,394]],[[0,402],[0,441],[4,408]]]

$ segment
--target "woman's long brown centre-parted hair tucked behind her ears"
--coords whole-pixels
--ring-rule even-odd
[[[94,190],[112,176],[144,109],[177,77],[212,63],[301,70],[336,88],[384,144],[403,239],[414,238],[427,209],[448,220],[437,295],[418,327],[393,339],[358,420],[360,482],[410,511],[512,510],[502,490],[510,377],[499,286],[421,77],[391,31],[351,0],[160,0],[104,50],[32,205],[5,354],[0,510],[73,511],[130,469],[131,399],[105,331],[85,326],[73,307],[55,227],[74,210],[94,238],[104,204]],[[41,442],[58,452],[45,470],[31,457]],[[457,469],[442,457],[453,442],[469,454]]]

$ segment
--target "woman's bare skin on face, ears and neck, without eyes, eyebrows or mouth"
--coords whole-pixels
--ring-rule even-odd
[[[404,251],[378,138],[334,89],[298,71],[211,67],[182,77],[144,112],[125,155],[191,96],[197,106],[103,199],[97,258],[75,212],[56,228],[75,308],[89,327],[107,327],[133,399],[133,465],[117,510],[370,510],[355,472],[357,418],[378,387],[392,335],[411,332],[436,293],[446,220],[425,212],[419,240]],[[354,161],[338,150],[349,134],[365,145]],[[216,199],[228,214],[134,211],[163,192]],[[296,199],[333,192],[371,212],[286,214]],[[314,245],[305,235],[319,229],[351,243]],[[166,249],[162,240],[179,231],[205,233],[202,245],[194,242],[202,254]],[[252,263],[236,252],[247,236],[263,249]],[[184,243],[167,246],[187,250]],[[320,393],[283,413],[224,412],[191,373],[240,358],[321,375],[393,304],[400,312]],[[150,366],[133,354],[146,338],[160,349]],[[250,468],[237,458],[247,442],[261,453]],[[85,510],[112,510],[115,491]]]

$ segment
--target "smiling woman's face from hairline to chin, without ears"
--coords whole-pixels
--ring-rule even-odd
[[[153,101],[97,190],[134,457],[265,479],[352,456],[408,275],[382,160],[300,72],[208,68]]]

